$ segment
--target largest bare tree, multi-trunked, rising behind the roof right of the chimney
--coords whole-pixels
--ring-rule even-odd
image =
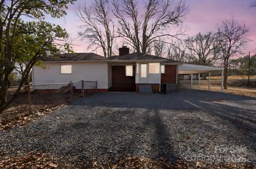
[[[178,3],[174,0],[147,0],[143,12],[135,0],[113,0],[113,5],[113,13],[119,23],[119,36],[137,52],[146,53],[155,42],[168,43],[162,39],[178,38],[183,34],[181,29],[171,34],[170,27],[180,25],[187,14],[185,0]]]

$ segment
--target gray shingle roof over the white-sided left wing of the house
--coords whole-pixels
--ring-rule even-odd
[[[110,60],[95,53],[65,53],[58,56],[43,58],[42,61],[79,61],[79,60]]]

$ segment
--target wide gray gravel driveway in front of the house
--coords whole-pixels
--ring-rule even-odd
[[[256,164],[256,98],[185,89],[94,94],[0,131],[0,140],[0,156],[36,150],[74,163],[125,154]]]

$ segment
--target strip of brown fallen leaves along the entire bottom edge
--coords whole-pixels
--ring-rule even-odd
[[[61,157],[60,157],[61,158]],[[242,168],[242,169],[252,169],[255,166],[245,164],[245,163],[226,163],[226,164],[203,164],[203,163],[193,163],[185,162],[183,160],[176,160],[173,163],[168,162],[165,158],[159,159],[149,159],[146,157],[135,156],[135,157],[108,157],[103,161],[92,162],[91,165],[87,162],[77,163],[72,166],[68,163],[56,163],[57,158],[53,158],[48,154],[42,152],[30,151],[25,155],[20,156],[5,156],[2,161],[0,161],[0,168],[90,168],[90,169],[181,169],[181,168]],[[114,162],[115,161],[115,162]],[[86,166],[86,167],[85,167]]]

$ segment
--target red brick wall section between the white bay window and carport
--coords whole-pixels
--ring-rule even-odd
[[[165,73],[161,74],[161,83],[175,83],[177,81],[177,65],[165,65]]]

